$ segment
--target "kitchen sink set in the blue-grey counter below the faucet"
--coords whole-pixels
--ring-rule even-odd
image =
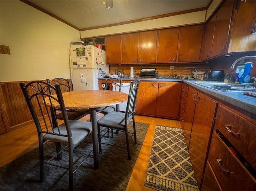
[[[228,92],[244,92],[244,91],[255,91],[256,84],[234,84],[226,82],[194,82],[195,84],[215,89],[217,91],[228,91]]]

